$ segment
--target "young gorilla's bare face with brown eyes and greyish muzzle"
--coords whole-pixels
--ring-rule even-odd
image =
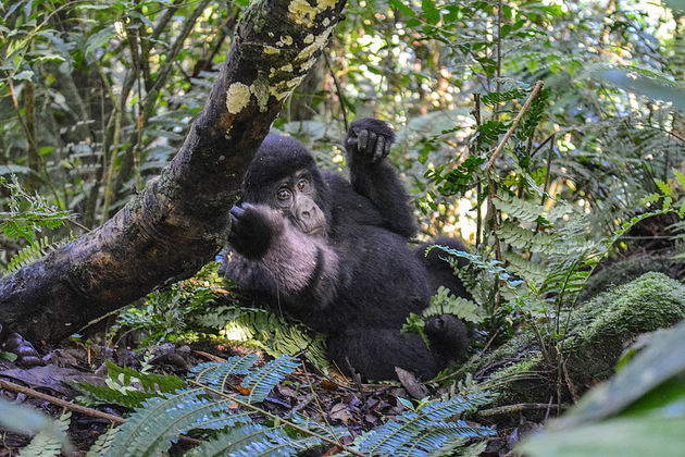
[[[300,231],[308,235],[325,236],[326,215],[316,200],[316,187],[308,169],[276,181],[270,188],[271,205],[279,209]]]

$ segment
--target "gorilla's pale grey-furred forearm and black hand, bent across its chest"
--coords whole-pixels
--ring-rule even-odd
[[[228,277],[248,289],[297,296],[303,305],[331,304],[338,256],[324,238],[302,233],[281,212],[262,205],[233,207],[231,219],[228,240],[238,256],[226,267]]]

